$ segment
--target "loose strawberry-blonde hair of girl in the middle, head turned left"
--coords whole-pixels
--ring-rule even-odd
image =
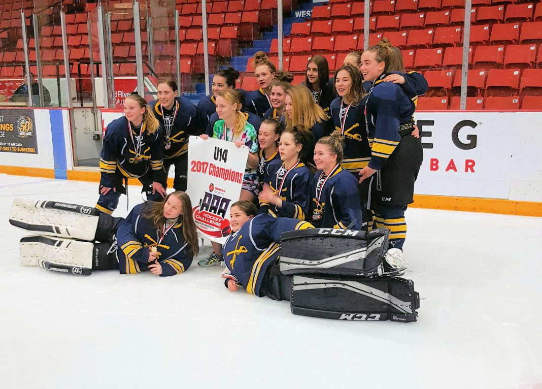
[[[311,91],[304,85],[296,85],[285,91],[292,98],[292,117],[286,115],[286,127],[302,126],[312,129],[316,123],[328,117],[322,107],[314,103]]]

